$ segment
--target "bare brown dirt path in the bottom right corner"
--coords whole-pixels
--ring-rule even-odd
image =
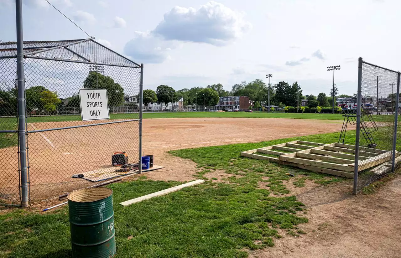
[[[314,187],[298,195],[308,207],[306,234],[285,235],[251,258],[401,257],[401,176],[374,195],[352,196],[352,183]]]

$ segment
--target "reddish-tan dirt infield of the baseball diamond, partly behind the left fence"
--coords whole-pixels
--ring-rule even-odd
[[[28,129],[80,125],[82,121],[30,123]],[[229,143],[259,142],[315,133],[340,131],[342,121],[263,118],[168,118],[144,119],[143,151],[154,163],[165,166],[147,173],[151,179],[185,181],[196,168],[192,161],[172,157],[166,151]],[[71,175],[109,166],[111,155],[127,151],[136,162],[138,122],[99,125],[32,133],[28,137],[32,200],[43,200],[91,185]],[[5,164],[0,179],[0,198],[17,198],[18,149],[0,150]],[[10,188],[5,188],[10,187]]]

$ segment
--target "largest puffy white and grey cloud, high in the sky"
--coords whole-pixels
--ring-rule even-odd
[[[222,46],[251,28],[243,14],[215,1],[199,9],[176,6],[164,14],[153,33],[166,40],[205,42]]]

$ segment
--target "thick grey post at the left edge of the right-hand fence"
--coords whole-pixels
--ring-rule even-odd
[[[333,94],[334,95],[334,94]],[[358,191],[358,159],[359,159],[359,135],[360,135],[360,109],[362,99],[362,57],[358,58],[358,101],[356,107],[356,139],[355,139],[355,163],[354,163],[354,191]]]

